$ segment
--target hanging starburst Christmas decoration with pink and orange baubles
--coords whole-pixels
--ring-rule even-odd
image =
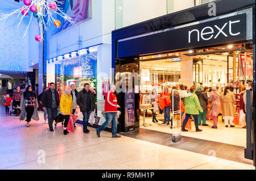
[[[24,31],[23,38],[26,36],[28,27],[30,27],[32,17],[38,19],[39,29],[40,29],[40,35],[43,39],[43,31],[47,31],[47,25],[54,24],[56,27],[60,27],[61,23],[59,20],[57,20],[54,17],[61,17],[65,21],[70,22],[71,24],[75,24],[73,22],[73,19],[65,14],[60,9],[60,5],[63,5],[63,1],[52,1],[52,0],[23,0],[24,5],[17,10],[11,11],[9,14],[2,14],[0,16],[0,20],[7,20],[8,18],[13,18],[12,16],[15,14],[18,14],[17,18],[19,18],[19,15],[22,14],[22,17],[19,21],[18,27],[20,24],[22,24],[22,19],[28,15],[28,10],[30,10],[31,16],[30,21],[28,23],[26,31]]]

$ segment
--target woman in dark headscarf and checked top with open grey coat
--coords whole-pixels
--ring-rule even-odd
[[[26,91],[23,92],[22,100],[20,101],[20,110],[19,120],[24,120],[27,113],[27,127],[30,127],[31,119],[39,120],[38,99],[36,99],[36,93],[32,90],[31,85],[28,85]]]

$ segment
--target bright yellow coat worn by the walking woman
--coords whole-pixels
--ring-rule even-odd
[[[70,115],[73,110],[72,96],[63,94],[60,98],[60,113],[64,112],[64,115]]]

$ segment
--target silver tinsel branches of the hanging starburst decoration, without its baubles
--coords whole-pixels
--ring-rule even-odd
[[[55,20],[56,20],[55,18],[53,18],[53,15],[59,15],[63,19],[67,20],[68,22],[70,22],[72,24],[75,24],[73,22],[73,19],[69,15],[65,14],[61,10],[61,8],[59,7],[61,4],[63,4],[63,2],[55,1],[56,4],[57,4],[57,7],[56,7],[55,10],[52,10],[52,9],[49,8],[49,3],[50,2],[52,2],[52,0],[34,0],[34,1],[32,0],[30,6],[23,5],[20,9],[13,10],[9,14],[2,14],[0,20],[6,21],[8,18],[11,18],[11,16],[13,16],[15,14],[17,15],[17,18],[19,18],[19,16],[21,15],[21,19],[18,23],[18,26],[20,26],[20,24],[22,23],[22,19],[25,17],[25,15],[22,15],[22,10],[27,9],[28,10],[27,12],[29,12],[30,7],[32,5],[36,5],[36,7],[39,7],[38,11],[36,11],[36,12],[43,15],[42,18],[40,19],[42,21],[42,23],[40,23],[40,21],[39,21],[40,35],[42,36],[42,38],[43,38],[43,31],[44,30],[47,31],[47,25],[50,24],[50,23],[54,23]],[[28,27],[30,26],[30,23],[31,23],[31,20],[32,20],[32,16],[33,16],[33,13],[31,12],[30,22],[28,23],[27,29],[24,32],[23,38],[27,34]],[[46,18],[46,17],[47,17],[47,21],[44,21],[44,18]]]

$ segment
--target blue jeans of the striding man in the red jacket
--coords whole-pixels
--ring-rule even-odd
[[[97,128],[97,132],[104,130],[112,121],[112,136],[117,135],[117,112],[106,112],[106,121]]]

